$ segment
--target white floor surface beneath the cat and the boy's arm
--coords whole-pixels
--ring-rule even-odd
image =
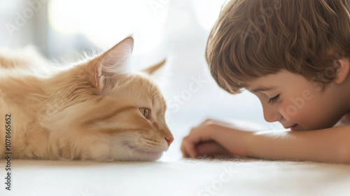
[[[1,161],[1,165],[5,162]],[[350,165],[265,160],[13,160],[0,195],[349,195]],[[1,169],[1,176],[4,176]]]

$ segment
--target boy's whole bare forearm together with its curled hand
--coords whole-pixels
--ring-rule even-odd
[[[349,130],[350,125],[305,132],[254,132],[205,120],[183,138],[181,151],[185,158],[215,154],[350,164]]]

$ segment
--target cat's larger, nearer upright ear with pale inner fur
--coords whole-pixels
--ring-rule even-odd
[[[105,78],[110,78],[114,74],[130,73],[131,67],[127,62],[132,55],[133,48],[134,38],[130,36],[94,59],[90,67],[92,85],[102,88]]]

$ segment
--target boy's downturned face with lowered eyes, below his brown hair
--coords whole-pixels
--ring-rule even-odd
[[[332,127],[346,113],[342,94],[333,83],[323,92],[303,76],[285,70],[258,78],[246,89],[260,99],[267,122],[279,121],[293,131]]]

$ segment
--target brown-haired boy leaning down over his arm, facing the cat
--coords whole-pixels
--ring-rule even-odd
[[[349,57],[349,0],[228,2],[207,43],[211,75],[232,94],[255,94],[265,120],[290,130],[206,120],[183,139],[183,156],[350,163]]]

